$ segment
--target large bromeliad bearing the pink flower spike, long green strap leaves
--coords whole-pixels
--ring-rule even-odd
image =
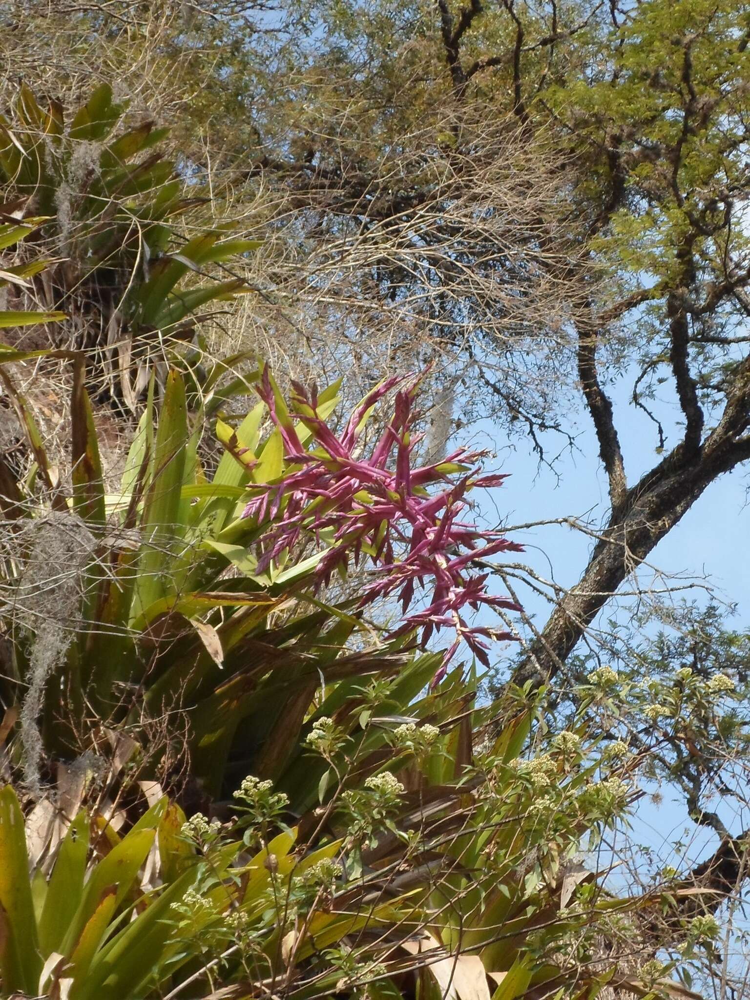
[[[209,480],[200,418],[189,418],[172,371],[156,428],[152,388],[122,490],[108,496],[82,363],[69,495],[52,488],[30,408],[6,376],[38,467],[36,487],[13,498],[3,595],[12,663],[2,698],[18,713],[12,758],[33,785],[45,761],[98,745],[102,726],[136,733],[166,777],[175,764],[166,719],[179,720],[207,794],[226,793],[248,772],[275,779],[310,707],[331,692],[352,712],[368,676],[413,664],[422,684],[439,681],[448,658],[415,651],[431,630],[450,626],[480,657],[483,639],[508,636],[465,618],[467,606],[510,606],[472,563],[511,543],[458,520],[466,493],[496,480],[483,480],[465,452],[411,467],[416,385],[399,388],[385,433],[369,446],[367,418],[392,384],[369,394],[337,437],[325,422],[337,386],[317,398],[298,387],[287,408],[267,370],[247,380],[261,400],[238,427],[218,422],[226,450]],[[332,572],[346,576],[365,555],[372,582],[327,604]],[[365,619],[375,597],[394,592],[408,611],[420,586],[431,595],[426,607],[395,628]]]

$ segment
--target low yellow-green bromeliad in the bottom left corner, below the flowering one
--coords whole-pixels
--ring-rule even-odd
[[[257,812],[259,787],[245,782],[238,792],[240,815],[243,798]],[[29,857],[25,833],[33,836],[35,818],[25,830],[15,792],[0,791],[4,995],[204,996],[217,981],[254,974],[252,992],[242,991],[253,995],[290,978],[286,928],[300,913],[330,946],[367,924],[392,926],[404,912],[399,900],[383,900],[353,913],[366,893],[361,882],[347,887],[346,909],[326,911],[342,871],[332,860],[341,842],[330,838],[304,856],[294,852],[295,830],[250,847],[242,820],[186,821],[161,798],[122,837],[101,812],[81,810]],[[297,947],[297,960],[312,950]]]

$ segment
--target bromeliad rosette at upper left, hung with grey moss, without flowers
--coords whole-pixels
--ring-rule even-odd
[[[22,84],[0,115],[0,211],[34,216],[27,243],[53,258],[43,282],[19,288],[69,316],[54,346],[87,350],[90,376],[106,375],[135,409],[151,366],[165,371],[175,345],[195,339],[200,311],[247,291],[207,272],[259,244],[191,218],[208,199],[159,148],[169,130],[126,113],[106,84],[69,115]],[[180,220],[191,238],[177,238]],[[20,266],[27,279],[38,270],[35,259]]]

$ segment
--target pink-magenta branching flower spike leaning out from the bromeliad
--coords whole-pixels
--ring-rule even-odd
[[[521,610],[514,601],[488,593],[489,573],[471,570],[477,560],[523,549],[497,531],[483,531],[458,520],[466,508],[468,490],[499,486],[505,479],[504,475],[478,475],[478,452],[460,448],[439,463],[412,468],[412,452],[420,439],[410,434],[418,380],[396,393],[393,417],[369,457],[355,457],[368,411],[404,381],[391,378],[373,389],[352,413],[340,437],[319,417],[316,394],[293,383],[292,412],[310,430],[316,445],[308,451],[286,408],[279,405],[266,368],[258,393],[279,428],[287,462],[298,468],[264,487],[248,503],[244,516],[257,518],[259,523],[268,519],[258,572],[292,549],[303,533],[320,537],[324,529],[332,529],[333,541],[329,532],[329,548],[316,567],[316,586],[327,584],[334,572],[345,571],[350,558],[358,565],[364,553],[375,567],[376,578],[366,586],[360,606],[396,594],[404,618],[393,636],[418,628],[424,645],[433,632],[453,628],[454,641],[437,681],[462,640],[487,665],[486,640],[515,638],[510,632],[469,627],[464,609],[478,611],[484,605]],[[427,489],[437,486],[441,488]],[[431,588],[431,596],[422,610],[407,614],[417,588],[420,593]]]

